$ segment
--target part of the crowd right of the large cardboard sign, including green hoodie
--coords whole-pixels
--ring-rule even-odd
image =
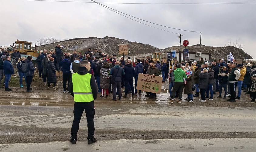
[[[178,63],[175,61],[175,63]],[[186,70],[184,70],[186,69]],[[186,71],[192,73],[187,77]],[[187,94],[185,100],[193,102],[193,97],[201,96],[200,102],[206,102],[206,99],[213,100],[213,95],[219,92],[217,98],[222,98],[222,89],[224,89],[224,99],[229,97],[227,101],[236,102],[241,99],[242,90],[246,94],[250,94],[251,102],[255,102],[256,69],[253,61],[246,61],[243,64],[237,64],[237,61],[228,61],[224,59],[213,60],[211,64],[204,62],[203,58],[190,64],[182,61],[181,64],[174,64],[169,72],[169,92],[170,103],[174,98],[178,97],[178,103],[182,101],[182,92]],[[237,88],[237,92],[236,92]],[[195,94],[192,95],[193,91]],[[209,94],[210,92],[210,94]],[[237,94],[237,95],[236,95]]]

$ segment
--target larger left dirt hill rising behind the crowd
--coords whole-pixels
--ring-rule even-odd
[[[159,48],[153,47],[151,45],[146,45],[142,43],[137,43],[137,42],[130,42],[124,39],[119,39],[115,37],[104,37],[104,38],[96,38],[96,37],[89,37],[89,38],[75,38],[75,39],[70,39],[66,41],[60,41],[57,42],[60,43],[61,46],[64,46],[65,48],[63,49],[64,53],[72,53],[73,50],[77,50],[77,52],[85,53],[87,52],[87,48],[101,48],[101,50],[105,54],[110,54],[110,55],[119,55],[118,50],[119,50],[119,44],[128,44],[129,45],[129,53],[128,55],[140,55],[140,54],[145,54],[145,53],[152,53],[156,51],[160,51]],[[37,49],[39,50],[50,50],[52,51],[57,43],[52,43],[48,45],[41,45],[37,46]]]

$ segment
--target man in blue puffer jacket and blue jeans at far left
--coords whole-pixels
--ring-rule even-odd
[[[14,69],[11,64],[10,56],[6,56],[6,58],[5,58],[4,69],[5,69],[5,91],[12,91],[11,88],[8,88],[8,84],[11,79],[11,76],[12,76],[12,74],[14,74]]]

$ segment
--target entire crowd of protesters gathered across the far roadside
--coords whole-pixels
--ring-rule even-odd
[[[141,90],[137,90],[138,74],[149,74],[159,76],[162,74],[162,83],[169,80],[170,103],[173,103],[175,97],[177,102],[181,103],[183,93],[187,94],[186,101],[193,102],[193,97],[201,96],[201,102],[206,102],[206,99],[213,100],[213,96],[218,94],[218,98],[226,99],[235,102],[236,99],[241,99],[241,93],[251,94],[251,101],[255,101],[255,78],[256,69],[255,63],[247,61],[244,65],[237,64],[224,59],[213,60],[211,64],[205,62],[203,58],[198,61],[182,61],[179,63],[174,60],[172,68],[169,70],[169,63],[166,61],[153,61],[149,57],[145,59],[137,59],[132,61],[131,58],[124,57],[118,61],[116,55],[106,55],[101,49],[94,51],[88,48],[86,52],[73,51],[73,54],[63,53],[60,44],[57,44],[54,51],[43,50],[37,57],[37,67],[33,67],[32,57],[26,60],[20,57],[19,52],[15,50],[11,56],[8,53],[0,58],[0,81],[5,75],[5,91],[12,91],[8,87],[11,75],[14,74],[14,69],[11,64],[11,59],[15,59],[20,78],[20,87],[23,88],[22,79],[25,78],[27,92],[31,92],[30,87],[34,71],[38,68],[39,78],[42,77],[43,85],[47,88],[58,88],[56,71],[62,71],[63,74],[63,93],[67,93],[72,74],[77,73],[81,62],[86,60],[90,62],[90,74],[94,75],[97,81],[98,93],[101,93],[101,98],[108,97],[109,93],[113,93],[113,101],[121,100],[122,97],[127,98],[128,94],[131,97],[142,94]],[[5,60],[5,61],[4,61]],[[102,72],[110,71],[111,77],[104,78]],[[190,73],[190,74],[189,74]],[[46,83],[47,81],[47,83]],[[135,85],[134,85],[135,83]],[[53,84],[53,86],[51,86]],[[0,86],[3,88],[3,86]],[[125,88],[122,96],[121,88]],[[237,88],[237,93],[236,93]],[[184,89],[184,92],[183,92]],[[224,95],[222,95],[224,89]],[[193,91],[195,93],[193,94]],[[209,93],[210,92],[210,93]],[[237,95],[236,95],[237,94]],[[105,96],[104,96],[105,95]],[[155,100],[156,94],[146,92],[146,97]]]

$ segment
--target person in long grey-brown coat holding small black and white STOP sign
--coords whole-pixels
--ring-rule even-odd
[[[97,67],[99,67],[98,65],[97,65]],[[110,69],[110,65],[108,64],[108,62],[104,62],[104,65],[102,65],[102,67],[100,69],[100,72],[99,72],[100,82],[98,84],[100,84],[100,89],[101,89],[101,96],[100,97],[101,98],[104,97],[104,91],[106,91],[106,96],[105,97],[108,97],[108,89],[109,89],[109,86],[110,86],[110,78],[109,77],[103,78],[102,71],[106,71],[106,70],[109,70],[109,69]]]

